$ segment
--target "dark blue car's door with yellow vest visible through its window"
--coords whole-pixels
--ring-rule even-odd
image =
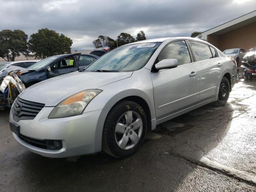
[[[79,54],[71,54],[60,60],[57,60],[50,66],[50,71],[47,71],[47,78],[60,76],[63,74],[75,72],[79,66]]]

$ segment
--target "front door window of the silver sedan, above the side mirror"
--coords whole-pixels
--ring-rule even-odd
[[[163,59],[177,59],[178,65],[191,63],[186,42],[176,41],[168,44],[158,55],[157,62]]]

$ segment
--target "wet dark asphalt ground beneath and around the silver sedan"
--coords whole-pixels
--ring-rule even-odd
[[[126,159],[100,153],[45,158],[13,138],[0,111],[0,191],[256,191],[256,79],[238,80],[228,104],[207,105],[148,132]]]

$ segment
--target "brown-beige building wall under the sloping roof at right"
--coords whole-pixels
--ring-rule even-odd
[[[222,35],[207,35],[207,42],[221,51],[232,48],[249,50],[256,46],[256,22]]]

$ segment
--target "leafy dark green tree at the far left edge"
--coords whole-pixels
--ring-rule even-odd
[[[28,35],[22,30],[0,31],[0,57],[14,61],[17,56],[28,56]]]

